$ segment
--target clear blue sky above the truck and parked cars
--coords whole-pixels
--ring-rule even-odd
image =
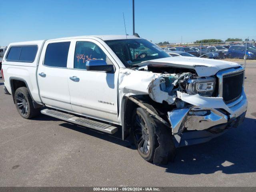
[[[135,0],[135,31],[148,40],[256,39],[256,0]],[[0,0],[0,45],[132,34],[132,0]]]

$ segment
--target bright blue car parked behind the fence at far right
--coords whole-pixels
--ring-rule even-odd
[[[227,58],[244,58],[244,59],[256,59],[256,49],[248,47],[245,53],[246,46],[244,45],[232,45],[226,53]]]

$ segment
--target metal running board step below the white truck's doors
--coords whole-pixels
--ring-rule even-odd
[[[44,109],[44,110],[41,110],[41,113],[64,120],[64,121],[68,121],[72,124],[82,125],[82,126],[92,128],[98,131],[106,132],[109,134],[114,134],[115,132],[117,132],[117,127],[112,126],[110,124],[106,124],[106,123],[102,123],[102,122],[98,122],[98,121],[94,121],[94,120],[90,120],[82,117],[77,117],[64,112],[59,112],[52,109]]]

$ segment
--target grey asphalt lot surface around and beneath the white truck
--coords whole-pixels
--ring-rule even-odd
[[[129,141],[40,115],[23,119],[0,80],[0,186],[256,186],[256,68],[246,68],[244,124],[143,160]]]

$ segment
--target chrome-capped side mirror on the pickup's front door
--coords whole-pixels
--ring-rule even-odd
[[[114,66],[108,65],[103,59],[96,59],[86,61],[86,70],[114,72]]]

